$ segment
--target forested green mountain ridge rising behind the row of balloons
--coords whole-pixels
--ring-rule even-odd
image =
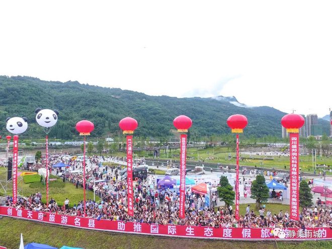
[[[233,103],[233,104],[232,104]],[[59,121],[50,137],[77,137],[76,122],[88,119],[95,124],[92,136],[119,134],[119,121],[127,116],[138,121],[138,136],[166,137],[173,120],[187,115],[193,120],[195,136],[229,134],[227,118],[243,114],[248,119],[245,136],[281,136],[280,120],[285,113],[271,107],[245,107],[235,97],[174,98],[148,96],[118,88],[79,84],[77,81],[44,81],[26,76],[0,76],[0,134],[8,134],[6,118],[26,116],[29,128],[23,137],[43,137],[35,121],[35,109],[59,110]]]

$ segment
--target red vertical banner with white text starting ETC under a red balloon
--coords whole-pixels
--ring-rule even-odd
[[[134,216],[133,207],[133,136],[127,135],[127,185],[128,185],[128,215]]]

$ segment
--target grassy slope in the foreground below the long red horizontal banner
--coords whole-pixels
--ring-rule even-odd
[[[277,248],[275,242],[248,242],[248,241],[219,241],[185,238],[164,238],[157,236],[126,235],[90,231],[79,228],[63,228],[55,225],[46,225],[36,222],[18,220],[5,217],[0,219],[0,245],[8,249],[17,249],[20,245],[20,234],[23,233],[24,243],[46,243],[60,248],[62,245],[77,246],[85,249],[109,248]],[[332,241],[307,242],[277,242],[279,249],[315,248],[326,249],[332,247]]]

